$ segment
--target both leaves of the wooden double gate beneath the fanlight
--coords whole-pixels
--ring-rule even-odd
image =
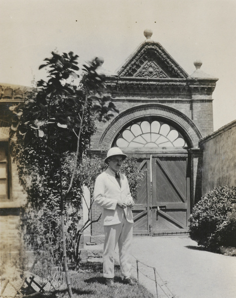
[[[133,209],[133,234],[186,233],[191,174],[187,151],[135,157],[144,177]]]

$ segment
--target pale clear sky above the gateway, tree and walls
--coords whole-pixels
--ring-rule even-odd
[[[114,73],[153,31],[190,75],[194,61],[218,77],[214,130],[236,119],[235,0],[0,0],[0,84],[32,86],[52,51],[80,62],[104,57]]]

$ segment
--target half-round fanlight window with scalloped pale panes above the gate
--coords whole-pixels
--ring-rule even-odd
[[[122,131],[116,141],[118,147],[187,147],[183,136],[169,124],[141,121]]]

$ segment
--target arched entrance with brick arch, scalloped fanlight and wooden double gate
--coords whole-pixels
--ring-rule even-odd
[[[107,127],[100,146],[120,147],[137,158],[145,174],[133,210],[135,234],[187,231],[188,149],[198,146],[200,138],[196,125],[183,113],[154,103],[125,110]]]

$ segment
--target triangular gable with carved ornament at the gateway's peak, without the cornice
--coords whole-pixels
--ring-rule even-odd
[[[159,43],[145,41],[118,70],[118,76],[187,78],[188,74]]]

